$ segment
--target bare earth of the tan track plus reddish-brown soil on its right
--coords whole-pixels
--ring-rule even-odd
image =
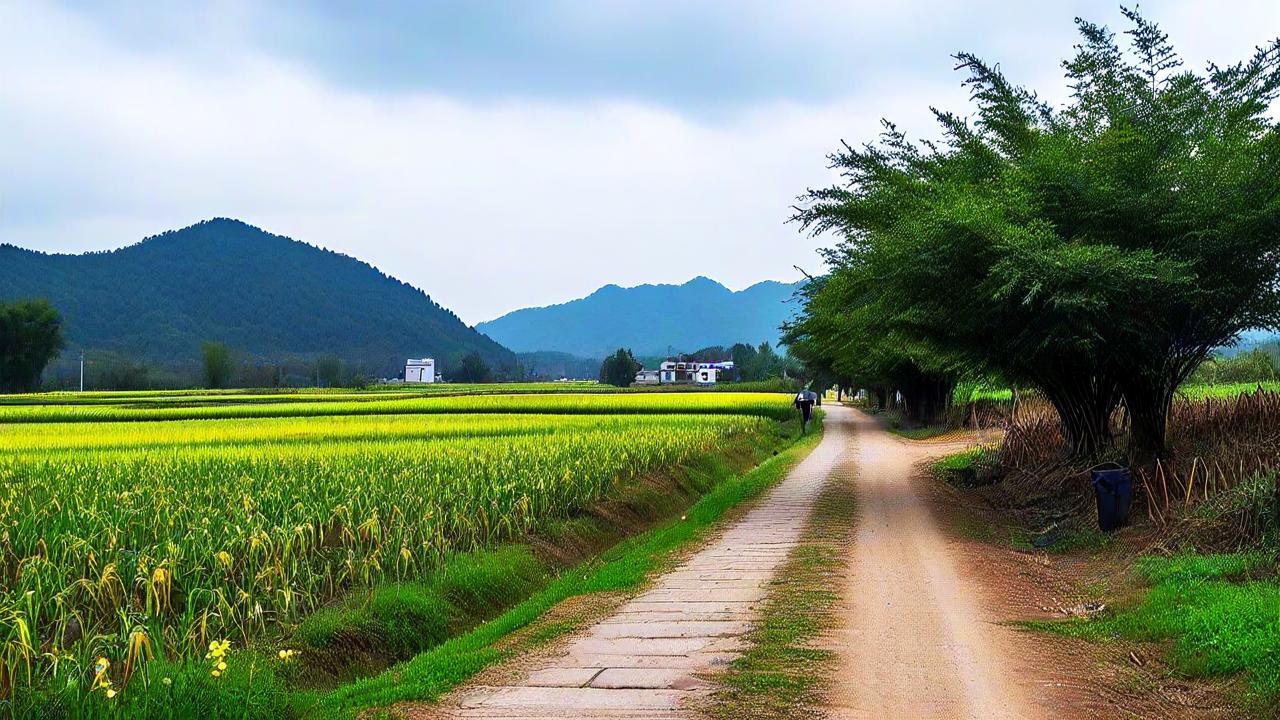
[[[858,423],[861,527],[845,580],[832,717],[1228,719],[1224,687],[1174,678],[1158,647],[1092,643],[1014,623],[1062,619],[1128,592],[1129,553],[1051,555],[1006,537],[928,473],[965,446]]]

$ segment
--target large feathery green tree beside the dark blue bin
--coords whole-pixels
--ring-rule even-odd
[[[888,126],[845,146],[845,182],[797,219],[845,237],[835,272],[867,268],[884,327],[1037,386],[1079,454],[1110,441],[1123,402],[1148,460],[1204,356],[1280,323],[1280,41],[1194,73],[1125,15],[1128,49],[1078,22],[1062,108],[957,55],[973,119],[937,113],[938,143]]]

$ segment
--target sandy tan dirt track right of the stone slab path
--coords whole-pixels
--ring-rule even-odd
[[[861,413],[852,424],[859,528],[831,716],[1050,717],[1033,700],[1038,674],[1010,651],[1014,630],[993,623],[913,482],[918,462],[955,447],[901,441]]]

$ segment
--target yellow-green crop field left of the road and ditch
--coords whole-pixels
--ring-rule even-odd
[[[0,694],[269,635],[790,414],[765,393],[257,397],[0,407]]]

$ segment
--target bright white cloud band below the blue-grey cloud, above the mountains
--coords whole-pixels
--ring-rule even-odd
[[[1220,53],[1235,36],[1208,37]],[[945,63],[910,82],[849,68],[868,73],[856,97],[696,120],[604,99],[364,92],[228,42],[160,61],[73,13],[0,5],[0,241],[109,249],[236,217],[370,261],[468,323],[607,282],[742,287],[818,265],[823,241],[783,222],[831,181],[841,137],[873,137],[881,117],[928,132],[929,105],[965,106]],[[1006,67],[1038,85],[1068,51]]]

